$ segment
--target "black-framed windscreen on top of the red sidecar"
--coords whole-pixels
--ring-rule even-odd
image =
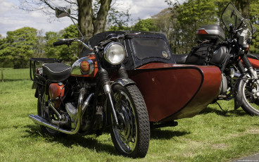
[[[134,70],[147,63],[175,63],[172,51],[165,35],[154,32],[141,32],[125,39],[127,58],[124,65],[127,70]]]

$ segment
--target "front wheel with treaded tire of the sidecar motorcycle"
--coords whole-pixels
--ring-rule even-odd
[[[120,123],[115,127],[109,110],[110,135],[123,156],[144,158],[149,149],[150,125],[146,104],[136,85],[113,85],[115,111]],[[110,108],[109,108],[110,109]]]

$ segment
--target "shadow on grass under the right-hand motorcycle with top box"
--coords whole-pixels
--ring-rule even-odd
[[[208,114],[208,113],[216,113],[219,116],[225,116],[225,117],[229,117],[229,116],[246,116],[246,115],[248,115],[248,113],[243,111],[243,109],[241,109],[241,108],[238,108],[237,110],[222,111],[220,109],[211,108],[210,106],[208,106],[207,108],[203,109],[203,111],[201,111],[200,114]]]

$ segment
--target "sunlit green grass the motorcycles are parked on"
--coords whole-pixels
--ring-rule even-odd
[[[118,155],[110,135],[47,137],[28,118],[37,113],[30,80],[0,82],[0,161],[232,161],[259,152],[259,117],[233,101],[209,105],[177,127],[151,131],[145,158]]]

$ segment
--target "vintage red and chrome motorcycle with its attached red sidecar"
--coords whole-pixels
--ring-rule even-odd
[[[70,13],[56,8],[56,15]],[[120,154],[144,157],[150,129],[176,126],[175,120],[196,116],[217,97],[220,69],[177,65],[163,34],[109,31],[83,41],[53,43],[84,45],[72,67],[30,59],[38,115],[29,117],[46,134],[101,135],[109,128]],[[44,64],[37,68],[39,63]]]

